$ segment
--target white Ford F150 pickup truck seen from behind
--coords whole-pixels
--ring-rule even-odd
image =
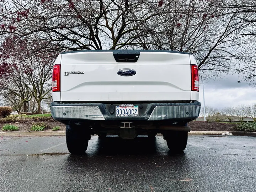
[[[165,50],[83,50],[58,55],[53,67],[54,119],[66,124],[72,154],[85,153],[90,135],[134,139],[162,133],[183,151],[199,115],[193,55]]]

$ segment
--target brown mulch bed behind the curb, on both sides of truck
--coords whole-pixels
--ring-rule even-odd
[[[59,126],[59,131],[65,130],[65,125],[54,119],[50,118],[47,121],[39,121],[38,119],[31,119],[27,122],[12,122],[12,123],[0,123],[0,130],[5,124],[11,124],[18,126],[20,131],[28,131],[30,130],[33,123],[44,122],[48,125],[48,129],[45,131],[52,131],[52,128],[55,126]],[[217,123],[217,122],[205,122],[205,121],[192,121],[188,123],[188,126],[191,127],[191,131],[232,131],[232,129],[236,126],[236,123]]]

